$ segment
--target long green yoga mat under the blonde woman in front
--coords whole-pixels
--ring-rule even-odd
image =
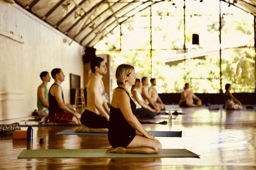
[[[26,158],[170,158],[197,157],[186,149],[163,149],[159,154],[116,154],[106,153],[106,149],[46,149],[23,150],[18,159]]]

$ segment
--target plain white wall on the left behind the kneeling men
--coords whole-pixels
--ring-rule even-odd
[[[83,47],[70,42],[18,5],[0,1],[0,120],[31,115],[37,109],[39,74],[53,68],[66,75],[61,86],[70,103],[70,73],[81,76],[81,87],[83,82]]]

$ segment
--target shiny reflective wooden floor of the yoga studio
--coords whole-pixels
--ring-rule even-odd
[[[187,149],[200,158],[76,158],[17,159],[27,149],[26,139],[1,136],[0,169],[256,169],[256,110],[209,110],[208,107],[181,109],[184,115],[173,116],[172,125],[143,124],[146,130],[182,131],[182,137],[157,137],[163,149]],[[255,107],[254,107],[255,108]],[[19,122],[31,117],[0,121]],[[157,115],[153,121],[167,120]],[[146,120],[146,119],[144,119]],[[149,120],[149,119],[147,119]],[[37,122],[29,122],[37,124]],[[76,127],[34,127],[32,149],[107,149],[107,136],[56,135]],[[27,128],[22,128],[26,130]],[[44,138],[44,144],[39,139]],[[31,146],[28,146],[31,147]]]

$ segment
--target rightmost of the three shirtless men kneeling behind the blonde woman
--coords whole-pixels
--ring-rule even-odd
[[[151,96],[153,102],[160,106],[161,110],[165,110],[165,105],[163,104],[162,100],[160,99],[157,89],[156,89],[156,79],[150,79],[151,87],[148,88],[148,93]]]

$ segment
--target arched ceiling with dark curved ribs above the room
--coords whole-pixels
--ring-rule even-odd
[[[94,46],[127,18],[162,1],[164,0],[15,0],[14,2],[82,46]],[[256,0],[223,2],[256,16]]]

